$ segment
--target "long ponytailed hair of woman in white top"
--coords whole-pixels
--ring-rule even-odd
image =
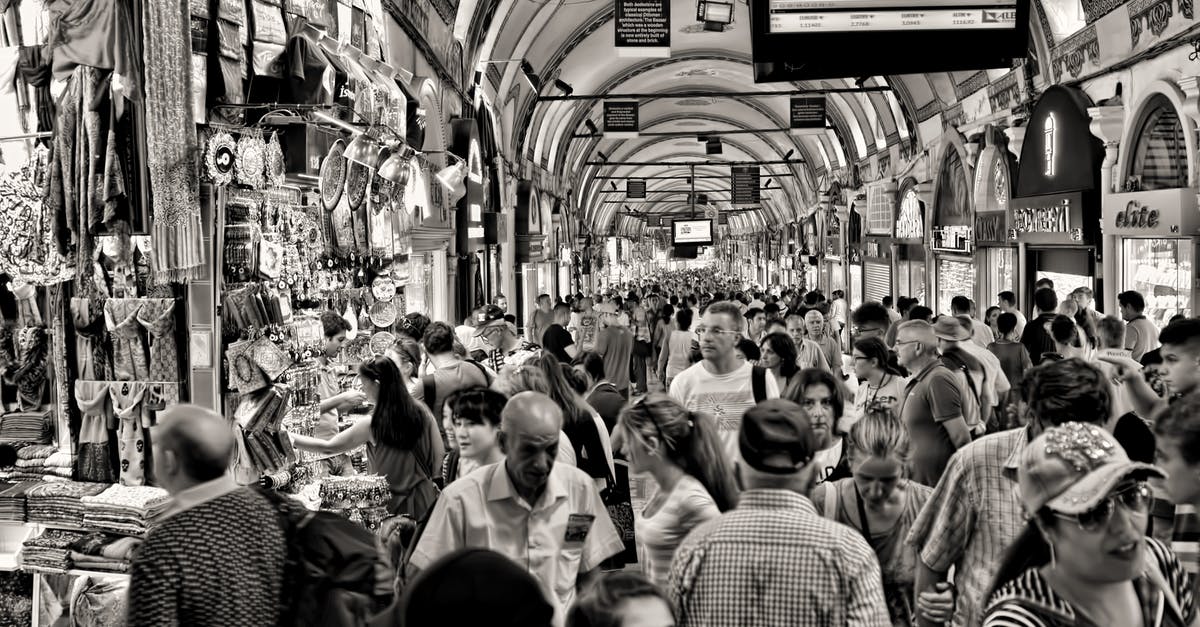
[[[737,504],[737,484],[713,417],[690,412],[671,396],[654,393],[625,407],[618,424],[626,437],[644,443],[653,436],[662,442],[667,459],[703,484],[721,512]]]

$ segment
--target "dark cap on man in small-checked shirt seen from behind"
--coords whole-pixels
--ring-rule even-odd
[[[738,450],[751,468],[791,474],[812,460],[816,442],[809,418],[799,405],[772,399],[743,414]]]

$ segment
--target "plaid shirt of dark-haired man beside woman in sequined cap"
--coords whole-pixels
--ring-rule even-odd
[[[1016,466],[1025,428],[980,437],[960,448],[908,532],[908,543],[934,571],[958,566],[953,625],[977,627],[1004,549],[1025,527]]]

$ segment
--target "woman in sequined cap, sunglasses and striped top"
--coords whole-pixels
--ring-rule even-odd
[[[1188,577],[1146,537],[1163,471],[1130,461],[1104,429],[1067,423],[1022,452],[1025,531],[1001,562],[984,627],[1195,625]]]

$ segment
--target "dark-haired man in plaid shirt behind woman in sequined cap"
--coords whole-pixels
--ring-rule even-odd
[[[1108,420],[1108,378],[1080,359],[1028,370],[1021,388],[1028,426],[983,436],[960,448],[913,521],[908,544],[917,549],[914,590],[922,627],[980,625],[983,597],[1004,550],[1025,526],[1014,488],[1026,444],[1051,426]],[[953,584],[947,581],[952,566]]]

